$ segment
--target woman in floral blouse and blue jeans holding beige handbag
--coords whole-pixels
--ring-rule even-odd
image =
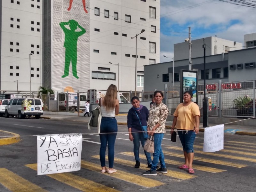
[[[162,151],[162,140],[165,133],[165,122],[169,110],[162,103],[164,93],[161,91],[154,92],[155,104],[151,106],[148,117],[148,135],[154,136],[154,153],[151,169],[142,172],[142,175],[157,175],[157,173],[167,173],[167,168],[164,162],[164,153]],[[156,170],[156,165],[160,161],[161,167]]]

